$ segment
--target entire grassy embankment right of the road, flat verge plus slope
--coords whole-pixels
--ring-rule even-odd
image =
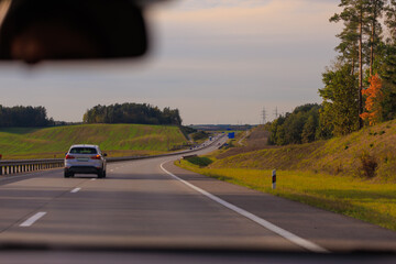
[[[183,161],[182,166],[396,231],[396,121],[311,144],[249,147]],[[367,175],[373,164],[374,174]],[[273,168],[276,190],[271,189]]]

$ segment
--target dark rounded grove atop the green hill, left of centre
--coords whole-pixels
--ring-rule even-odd
[[[96,106],[88,109],[84,123],[139,123],[139,124],[182,124],[178,109],[163,110],[147,103],[116,103]]]

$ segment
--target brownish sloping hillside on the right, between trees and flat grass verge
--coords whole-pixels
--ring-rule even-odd
[[[396,121],[342,138],[301,145],[245,147],[217,153],[212,168],[298,169],[396,180]],[[370,172],[370,170],[373,172]]]

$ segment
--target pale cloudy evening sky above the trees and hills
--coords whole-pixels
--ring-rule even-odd
[[[177,108],[184,124],[250,123],[321,102],[321,73],[336,57],[329,23],[338,0],[174,0],[146,10],[144,61],[0,64],[0,105],[44,106],[82,120],[96,105]]]

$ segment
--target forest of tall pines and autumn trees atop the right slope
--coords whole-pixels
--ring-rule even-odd
[[[297,107],[267,129],[270,143],[345,135],[396,118],[396,0],[341,0],[338,56],[322,74],[322,103]]]

